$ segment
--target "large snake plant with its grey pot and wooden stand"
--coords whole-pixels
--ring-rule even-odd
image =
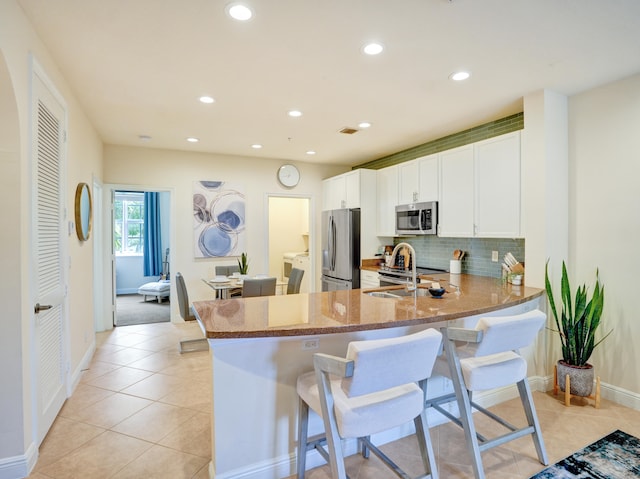
[[[576,290],[575,299],[571,295],[571,285],[567,268],[562,262],[561,298],[562,310],[558,314],[556,302],[553,297],[551,281],[549,280],[549,262],[545,265],[545,289],[549,298],[551,312],[556,322],[557,330],[562,343],[562,359],[557,367],[557,386],[565,391],[566,375],[569,375],[569,392],[574,396],[590,397],[593,390],[594,370],[588,363],[594,348],[611,334],[596,341],[595,335],[600,326],[602,309],[604,306],[604,286],[600,285],[598,271],[596,270],[596,284],[591,298],[588,296],[587,287],[583,284]],[[567,396],[568,401],[569,396]],[[599,398],[596,397],[596,406]]]

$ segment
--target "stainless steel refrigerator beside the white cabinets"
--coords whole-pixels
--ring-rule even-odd
[[[322,212],[322,291],[360,288],[360,209]]]

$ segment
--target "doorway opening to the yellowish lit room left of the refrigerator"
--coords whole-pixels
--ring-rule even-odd
[[[287,281],[291,268],[304,271],[301,293],[313,291],[310,251],[311,199],[299,196],[269,196],[269,274]]]

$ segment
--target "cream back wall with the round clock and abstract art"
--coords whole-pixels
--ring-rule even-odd
[[[276,171],[283,161],[266,158],[232,157],[187,151],[154,150],[106,145],[104,181],[111,184],[138,185],[144,188],[170,188],[171,212],[171,271],[180,272],[187,285],[194,279],[210,278],[216,264],[233,264],[235,258],[194,258],[193,250],[193,182],[222,180],[244,186],[246,198],[246,251],[252,271],[268,271],[268,208],[269,196],[295,194],[311,198],[309,233],[320,231],[321,180],[343,173],[345,167],[296,163],[301,180],[293,189],[284,189],[276,179]],[[310,251],[320,264],[320,245],[311,239]],[[315,246],[315,249],[314,249]],[[318,271],[319,269],[316,269]],[[316,283],[318,279],[316,278]],[[206,295],[206,290],[197,289]],[[189,299],[195,295],[189,289]],[[175,291],[172,291],[175,295]],[[211,296],[213,297],[213,293]],[[201,298],[205,299],[205,298]],[[172,320],[179,320],[177,298],[172,296]]]

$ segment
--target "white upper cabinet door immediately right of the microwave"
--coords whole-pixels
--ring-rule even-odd
[[[473,236],[473,145],[440,154],[440,236]]]

